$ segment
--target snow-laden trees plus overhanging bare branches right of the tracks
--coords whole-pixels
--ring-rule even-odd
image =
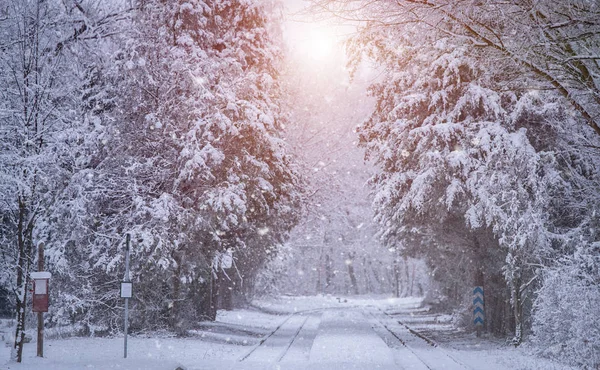
[[[361,134],[382,170],[373,184],[386,242],[430,262],[453,256],[447,266],[485,267],[486,284],[502,268],[519,342],[533,292],[555,281],[543,272],[574,268],[557,261],[593,250],[586,209],[597,154],[582,147],[598,138],[581,124],[599,132],[597,4],[313,3],[360,22],[354,55],[382,67]],[[445,269],[444,279],[456,273]],[[551,289],[540,290],[538,332],[551,312],[542,302],[556,302]]]

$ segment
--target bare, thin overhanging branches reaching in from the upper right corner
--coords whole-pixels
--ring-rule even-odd
[[[312,0],[326,16],[378,29],[418,28],[439,33],[487,60],[504,59],[519,73],[504,82],[552,89],[575,109],[580,122],[600,133],[597,114],[600,42],[598,4],[592,0],[485,2],[455,0]],[[521,73],[535,78],[523,79]]]

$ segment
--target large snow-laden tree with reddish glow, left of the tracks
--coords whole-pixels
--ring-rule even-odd
[[[230,301],[209,292],[244,292],[298,217],[301,180],[279,138],[277,9],[138,5],[100,71],[105,93],[96,95],[114,98],[96,112],[106,128],[90,174],[90,232],[82,245],[73,240],[66,261],[69,273],[88,278],[74,289],[81,297],[65,294],[61,312],[79,302],[77,321],[118,330],[109,282],[122,276],[130,233],[133,325],[185,330]],[[235,264],[224,271],[218,261],[228,249]]]

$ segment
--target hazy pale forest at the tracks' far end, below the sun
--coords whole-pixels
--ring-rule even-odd
[[[290,12],[292,21],[310,19]],[[334,43],[345,30],[318,34],[332,39],[328,55],[307,55],[298,44],[310,29],[328,25],[300,24],[284,34],[281,81],[289,112],[284,137],[303,166],[306,213],[261,271],[259,285],[271,294],[423,296],[432,290],[427,267],[383,245],[371,209],[375,166],[364,161],[356,128],[373,109],[367,88],[375,71],[365,65],[350,79],[343,45]],[[290,40],[292,31],[298,36]]]

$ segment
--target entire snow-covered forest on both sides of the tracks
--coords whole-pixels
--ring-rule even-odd
[[[352,178],[309,176],[333,159],[311,140],[348,121],[304,130],[332,101],[284,83],[278,2],[0,0],[0,292],[16,348],[40,243],[53,274],[46,324],[121,330],[129,234],[133,331],[184,334],[296,274],[279,261],[305,248],[332,261],[301,268],[315,282],[306,293],[369,292],[373,271],[423,261],[423,288],[458,325],[470,326],[483,285],[489,332],[597,367],[597,2],[312,4],[358,26],[351,72],[379,72],[374,101],[346,118],[367,117],[358,140],[376,166]],[[343,158],[339,171],[359,160]],[[375,223],[358,227],[358,198],[317,210],[368,177]],[[300,245],[307,235],[319,242]],[[369,248],[389,254],[363,273],[353,253]],[[391,280],[371,292],[404,294]]]

